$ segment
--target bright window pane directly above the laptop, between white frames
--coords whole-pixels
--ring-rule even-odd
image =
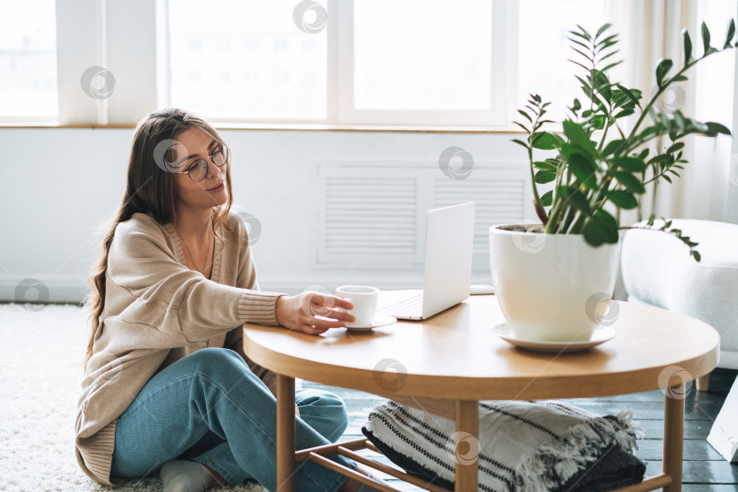
[[[448,7],[427,0],[354,2],[354,108],[491,107],[492,5]]]

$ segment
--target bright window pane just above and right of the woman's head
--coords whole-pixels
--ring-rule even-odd
[[[170,104],[220,121],[325,119],[326,31],[301,31],[296,4],[169,2]]]

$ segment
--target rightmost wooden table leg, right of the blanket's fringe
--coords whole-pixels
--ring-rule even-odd
[[[671,477],[671,484],[664,487],[664,492],[682,490],[684,396],[683,383],[666,390],[663,416],[663,472]]]

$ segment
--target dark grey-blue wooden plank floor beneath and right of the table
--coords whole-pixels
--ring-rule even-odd
[[[737,371],[716,369],[711,375],[710,391],[698,392],[692,385],[685,402],[684,422],[684,465],[682,490],[685,492],[735,492],[738,491],[738,464],[727,463],[710,446],[706,439],[712,422],[720,411],[725,396],[730,391]],[[362,392],[302,382],[303,388],[319,388],[341,395],[349,414],[349,426],[343,439],[361,437],[361,427],[374,405],[383,399]],[[646,436],[639,441],[636,456],[647,464],[646,476],[661,472],[661,453],[663,446],[663,393],[661,390],[633,395],[619,395],[607,398],[587,398],[571,400],[575,405],[586,408],[598,415],[617,414],[622,408],[633,410],[635,420],[641,423]],[[738,415],[736,415],[738,417]],[[363,452],[382,463],[391,465],[384,456]],[[383,477],[401,490],[420,490],[392,477]]]

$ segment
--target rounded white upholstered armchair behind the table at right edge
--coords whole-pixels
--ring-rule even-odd
[[[657,222],[658,225],[658,222]],[[674,219],[702,255],[661,231],[634,229],[623,239],[620,268],[629,302],[643,302],[710,324],[721,336],[719,367],[738,369],[738,225]],[[707,390],[709,374],[697,380]]]

